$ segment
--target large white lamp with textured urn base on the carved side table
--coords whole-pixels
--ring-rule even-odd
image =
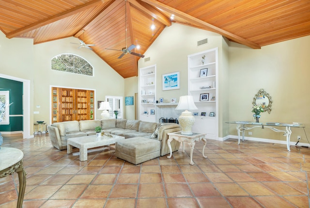
[[[182,131],[181,134],[191,135],[192,126],[195,122],[195,117],[193,116],[192,110],[198,110],[194,103],[193,96],[180,96],[180,101],[175,110],[182,110],[182,114],[179,117],[179,124],[181,125]]]

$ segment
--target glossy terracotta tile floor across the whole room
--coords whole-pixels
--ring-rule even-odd
[[[4,147],[24,152],[27,186],[23,208],[308,208],[310,149],[236,140],[208,140],[133,165],[114,155],[114,145],[90,149],[52,147],[48,134],[22,140],[4,135]],[[308,172],[307,172],[308,171]],[[0,179],[0,207],[15,208],[17,174]]]

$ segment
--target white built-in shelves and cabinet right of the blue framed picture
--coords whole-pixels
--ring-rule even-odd
[[[213,48],[187,56],[188,95],[193,96],[198,108],[193,131],[206,133],[208,139],[218,138],[217,53],[218,49]],[[214,116],[210,116],[211,112]]]

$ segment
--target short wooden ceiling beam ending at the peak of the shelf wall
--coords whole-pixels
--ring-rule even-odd
[[[137,9],[139,9],[141,12],[152,16],[162,24],[166,26],[171,26],[171,20],[167,16],[160,13],[158,10],[156,10],[154,7],[150,6],[149,4],[137,0],[129,0],[129,2],[135,6]]]

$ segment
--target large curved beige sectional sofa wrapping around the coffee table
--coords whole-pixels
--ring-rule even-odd
[[[106,133],[124,136],[125,139],[144,137],[160,141],[160,155],[170,153],[167,133],[180,131],[178,124],[152,123],[127,119],[103,119],[84,121],[65,121],[47,126],[51,142],[59,150],[67,148],[67,139],[87,135],[95,135],[94,128],[101,126]],[[180,143],[172,140],[171,149],[179,149]]]

